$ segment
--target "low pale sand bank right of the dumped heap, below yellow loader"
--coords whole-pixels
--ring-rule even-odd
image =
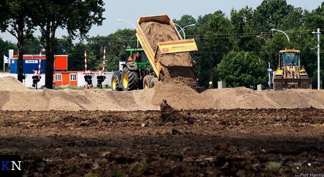
[[[214,109],[324,108],[324,91],[253,91],[245,87],[210,89],[201,93]]]

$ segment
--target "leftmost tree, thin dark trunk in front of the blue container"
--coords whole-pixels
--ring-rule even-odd
[[[32,36],[34,25],[31,22],[31,14],[29,9],[32,9],[30,1],[26,0],[4,0],[0,5],[1,31],[8,31],[17,38],[18,48],[18,80],[23,80],[23,50],[24,39]]]

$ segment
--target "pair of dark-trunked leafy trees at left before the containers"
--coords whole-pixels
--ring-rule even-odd
[[[0,3],[0,29],[17,38],[18,80],[22,82],[24,41],[33,38],[36,27],[42,33],[42,46],[46,51],[45,86],[53,89],[55,32],[65,28],[70,39],[85,38],[92,25],[101,25],[105,19],[102,0],[3,0]]]

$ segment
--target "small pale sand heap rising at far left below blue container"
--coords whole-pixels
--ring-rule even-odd
[[[28,90],[19,80],[15,77],[8,76],[0,78],[0,91],[26,91]]]

